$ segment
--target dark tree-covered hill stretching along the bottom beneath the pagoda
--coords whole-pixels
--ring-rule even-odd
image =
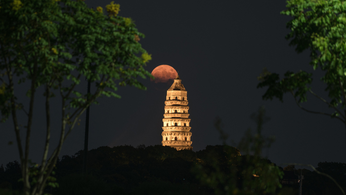
[[[227,147],[227,149],[225,149]],[[230,163],[237,166],[238,186],[241,186],[242,159],[238,149],[231,146],[206,146],[204,150],[180,150],[169,146],[102,146],[88,152],[88,175],[81,175],[83,151],[64,155],[57,162],[55,175],[59,187],[52,194],[214,194],[214,190],[201,184],[195,167],[205,170],[215,163],[225,175]],[[264,161],[269,160],[264,159]],[[283,170],[283,168],[280,168]],[[327,177],[307,169],[284,168],[304,175],[303,194],[341,194]],[[319,163],[319,171],[332,176],[346,188],[346,164]],[[21,189],[20,164],[17,161],[0,167],[0,188]],[[32,181],[32,179],[31,179]],[[284,185],[280,194],[297,194],[297,185]]]

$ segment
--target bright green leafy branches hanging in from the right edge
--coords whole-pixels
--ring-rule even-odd
[[[269,87],[263,99],[278,98],[282,102],[284,93],[291,93],[296,104],[310,113],[323,114],[341,121],[346,128],[346,2],[340,0],[287,1],[287,10],[283,15],[291,16],[287,28],[291,31],[286,35],[290,46],[301,53],[310,50],[310,65],[313,69],[321,68],[325,75],[321,78],[327,87],[329,102],[315,94],[309,85],[312,83],[312,73],[287,71],[280,80],[279,74],[271,73],[264,68],[257,77],[261,82],[257,88]],[[308,110],[300,103],[307,101],[307,93],[311,93],[328,107],[333,113]]]

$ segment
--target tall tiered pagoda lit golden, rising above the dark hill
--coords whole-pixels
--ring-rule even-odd
[[[167,90],[164,102],[164,119],[162,132],[162,145],[174,147],[177,150],[192,149],[190,132],[189,106],[187,91],[182,80],[177,75],[173,85]]]

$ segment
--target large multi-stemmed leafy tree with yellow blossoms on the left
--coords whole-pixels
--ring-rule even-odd
[[[118,4],[111,2],[106,9],[108,16],[103,14],[101,7],[94,11],[83,1],[0,2],[0,109],[3,122],[12,116],[24,194],[43,192],[63,142],[91,103],[100,96],[120,98],[115,93],[117,86],[146,89],[137,81],[138,76],[144,79],[151,76],[144,69],[151,55],[138,43],[144,34],[138,32],[131,18],[117,16]],[[84,76],[95,84],[95,93],[88,95],[76,90]],[[17,85],[14,83],[17,81],[19,84],[30,83],[28,105],[19,102],[15,95]],[[31,186],[28,153],[37,88],[45,89],[47,132],[40,168],[35,176],[37,182]],[[50,99],[56,95],[62,103],[61,133],[59,143],[49,157]],[[24,145],[18,110],[27,114]]]

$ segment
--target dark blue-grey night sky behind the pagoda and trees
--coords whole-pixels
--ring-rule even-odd
[[[90,7],[105,6],[110,1],[87,0]],[[264,154],[276,163],[346,162],[343,124],[328,116],[305,112],[298,108],[292,95],[284,102],[262,100],[266,89],[256,89],[263,67],[281,76],[287,71],[306,70],[314,73],[312,91],[329,100],[320,81],[321,70],[309,65],[309,52],[297,54],[285,35],[288,16],[280,15],[285,1],[116,1],[119,15],[131,17],[146,37],[140,43],[152,54],[147,70],[167,64],[179,71],[190,106],[193,150],[206,145],[221,144],[213,123],[220,116],[230,139],[239,142],[244,132],[256,124],[250,114],[266,106],[271,120],[264,125],[265,135],[276,141]],[[141,80],[148,87],[141,91],[119,88],[121,99],[101,98],[91,106],[89,148],[139,144],[161,144],[162,118],[166,92],[155,90],[150,80]],[[25,86],[17,88],[20,100]],[[26,86],[27,87],[27,86]],[[93,87],[92,87],[93,88]],[[79,89],[86,91],[83,81]],[[168,88],[167,88],[168,89]],[[39,163],[45,137],[44,98],[39,89],[35,101],[34,129],[30,158]],[[57,145],[60,130],[60,100],[53,99],[53,137]],[[326,104],[308,95],[306,108],[332,113]],[[25,119],[25,115],[20,117]],[[61,155],[72,155],[83,148],[85,114],[63,145]],[[22,120],[24,122],[24,120]],[[0,164],[19,160],[12,120],[0,124]],[[24,136],[22,135],[22,138]]]

